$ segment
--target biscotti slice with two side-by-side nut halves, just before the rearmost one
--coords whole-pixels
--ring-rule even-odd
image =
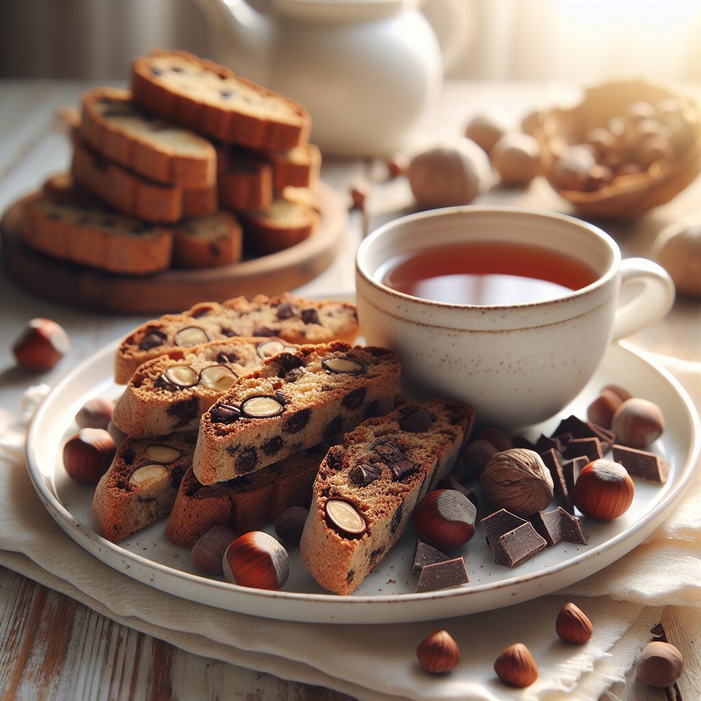
[[[130,436],[197,430],[200,416],[236,378],[263,365],[268,338],[233,338],[180,348],[144,362],[114,407],[112,421]]]

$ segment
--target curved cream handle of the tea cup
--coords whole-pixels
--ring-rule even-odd
[[[646,258],[626,258],[620,263],[621,288],[628,283],[642,283],[638,294],[618,307],[611,341],[634,334],[662,319],[674,304],[674,283],[665,268]]]

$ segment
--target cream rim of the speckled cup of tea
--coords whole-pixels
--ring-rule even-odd
[[[613,254],[613,259],[611,264],[609,264],[606,272],[603,275],[594,280],[590,285],[585,287],[580,287],[579,290],[572,290],[569,294],[564,294],[562,297],[555,297],[554,299],[545,299],[537,302],[524,302],[515,304],[453,304],[449,302],[435,301],[433,299],[424,299],[423,297],[414,297],[411,294],[406,294],[405,292],[398,292],[392,287],[388,287],[381,283],[379,280],[375,280],[368,271],[364,269],[364,261],[362,257],[367,255],[367,251],[374,244],[376,240],[386,235],[387,231],[395,229],[397,226],[402,226],[407,223],[416,222],[421,219],[434,219],[438,217],[443,217],[446,215],[459,215],[459,214],[511,214],[511,215],[524,215],[528,217],[536,217],[543,219],[555,219],[566,224],[578,226],[580,229],[585,229],[590,233],[593,233],[599,240],[605,243],[609,250]],[[423,304],[424,306],[437,307],[443,309],[479,309],[488,310],[504,310],[504,309],[529,309],[529,308],[543,308],[545,306],[550,306],[552,304],[559,304],[563,301],[578,299],[579,297],[584,297],[587,294],[591,294],[595,290],[599,290],[604,287],[616,274],[618,266],[620,266],[621,254],[618,243],[606,233],[599,226],[590,224],[590,222],[585,222],[583,219],[578,219],[577,217],[571,217],[570,215],[564,215],[560,212],[549,212],[547,210],[530,209],[528,207],[512,207],[510,205],[458,205],[455,207],[440,207],[440,209],[425,210],[423,212],[414,212],[410,215],[404,215],[403,217],[397,217],[397,219],[392,219],[390,222],[386,222],[377,229],[372,231],[365,239],[360,242],[358,246],[358,251],[355,253],[355,270],[358,275],[360,275],[369,285],[376,287],[378,290],[385,294],[390,294],[398,299],[403,299],[407,302],[413,302],[414,304]]]

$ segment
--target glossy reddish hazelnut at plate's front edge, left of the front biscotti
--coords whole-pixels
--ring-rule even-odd
[[[231,584],[278,590],[290,576],[290,559],[275,538],[262,531],[250,531],[226,548],[222,570],[224,579]]]

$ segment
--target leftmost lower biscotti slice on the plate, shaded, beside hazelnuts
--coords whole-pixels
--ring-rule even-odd
[[[189,432],[123,440],[93,497],[93,516],[107,540],[116,543],[170,513],[196,437]]]

